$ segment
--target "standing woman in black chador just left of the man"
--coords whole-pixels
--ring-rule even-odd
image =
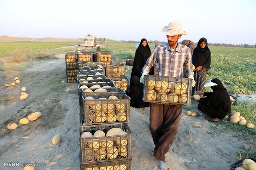
[[[136,49],[135,57],[133,61],[133,69],[130,76],[130,88],[129,91],[133,89],[133,76],[140,78],[142,76],[142,68],[146,64],[148,57],[151,55],[151,50],[147,43],[147,39],[143,38],[140,41],[140,45]],[[150,70],[151,75],[154,74],[154,69]],[[131,99],[132,100],[132,99]],[[132,101],[131,101],[132,102]],[[149,103],[144,106],[144,109],[149,109]]]

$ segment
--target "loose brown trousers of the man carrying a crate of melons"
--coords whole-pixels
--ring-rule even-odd
[[[150,107],[150,131],[155,144],[154,157],[165,162],[165,154],[170,149],[182,116],[182,105],[152,103]]]

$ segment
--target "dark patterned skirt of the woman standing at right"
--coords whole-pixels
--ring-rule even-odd
[[[196,85],[192,87],[192,95],[194,95],[195,91],[201,91],[205,92],[206,88],[204,85],[206,84],[206,68],[201,68],[199,71],[194,71],[194,81],[196,82]],[[204,95],[199,95],[201,98],[204,97]]]

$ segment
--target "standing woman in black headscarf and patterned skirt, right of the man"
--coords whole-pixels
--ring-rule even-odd
[[[197,47],[194,49],[192,56],[192,63],[194,64],[194,80],[196,85],[192,88],[192,95],[195,91],[205,92],[206,74],[211,69],[211,51],[208,48],[207,39],[201,38],[198,41]],[[204,95],[199,95],[201,98]]]

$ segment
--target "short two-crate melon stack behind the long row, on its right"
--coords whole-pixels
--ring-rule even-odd
[[[126,65],[125,64],[113,64],[105,66],[105,74],[107,78],[110,78],[116,87],[122,88],[126,94],[128,94],[129,80],[126,77]]]

